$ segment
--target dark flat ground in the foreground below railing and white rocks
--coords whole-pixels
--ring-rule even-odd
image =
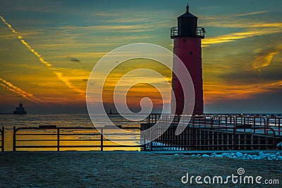
[[[266,184],[183,184],[181,177],[245,175]],[[1,152],[0,187],[282,187],[282,162],[149,152]]]

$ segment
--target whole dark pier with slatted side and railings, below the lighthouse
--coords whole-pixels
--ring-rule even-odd
[[[158,115],[152,114],[143,130],[154,126],[152,136],[164,129],[161,123],[171,125],[149,149],[179,148],[182,150],[255,150],[276,149],[282,141],[281,115]],[[176,135],[179,125],[187,125],[181,134]]]

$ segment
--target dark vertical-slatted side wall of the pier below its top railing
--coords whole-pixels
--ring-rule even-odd
[[[276,149],[276,134],[271,127],[251,127],[250,132],[237,127],[186,127],[176,135],[176,127],[169,127],[149,150],[255,150]],[[155,127],[150,136],[158,135],[161,127]],[[238,131],[241,130],[241,131]],[[268,134],[253,134],[255,130],[267,130]],[[149,138],[149,137],[147,137]]]

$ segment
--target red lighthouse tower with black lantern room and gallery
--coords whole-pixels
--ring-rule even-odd
[[[202,82],[202,47],[201,39],[204,39],[204,28],[197,27],[197,17],[189,12],[178,18],[178,27],[171,28],[171,39],[173,39],[173,53],[180,58],[190,73],[195,90],[195,105],[193,115],[204,113],[203,82]],[[177,65],[173,60],[173,72],[177,74]],[[191,104],[194,99],[184,99],[183,89],[176,75],[172,75],[172,87],[176,96],[176,115],[187,114],[183,111],[185,104]],[[173,110],[173,109],[172,109]]]

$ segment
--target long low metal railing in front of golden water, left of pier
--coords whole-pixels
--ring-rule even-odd
[[[13,151],[44,149],[44,150],[90,150],[104,151],[105,148],[141,148],[146,149],[140,137],[140,127],[121,127],[128,133],[111,132],[111,127],[102,127],[99,131],[95,127],[13,127]],[[131,130],[131,131],[129,131]],[[135,130],[133,132],[133,130]],[[107,139],[109,136],[113,139]],[[136,142],[139,144],[117,144],[115,142]],[[96,151],[95,150],[95,151]]]

